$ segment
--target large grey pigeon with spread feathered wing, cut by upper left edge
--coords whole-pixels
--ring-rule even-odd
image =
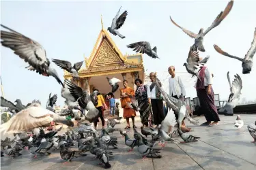
[[[8,31],[1,30],[1,41],[2,46],[14,50],[14,54],[24,59],[29,66],[26,67],[31,71],[36,71],[44,76],[53,76],[59,84],[64,86],[61,82],[57,71],[52,67],[51,62],[46,57],[46,51],[44,48],[33,39],[26,37],[8,27],[1,24],[1,27],[8,29]]]

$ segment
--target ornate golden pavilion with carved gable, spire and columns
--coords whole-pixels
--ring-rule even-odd
[[[134,80],[141,78],[144,81],[145,73],[143,67],[142,54],[124,55],[115,45],[111,35],[104,29],[101,18],[102,29],[98,39],[91,52],[91,55],[85,57],[85,67],[79,70],[78,81],[72,79],[72,75],[64,70],[64,78],[71,80],[84,90],[91,92],[93,88],[98,88],[102,95],[111,92],[111,86],[106,80],[109,78],[118,78],[119,80],[128,80],[128,86],[134,87]],[[122,88],[122,82],[119,82],[119,88]],[[119,99],[119,89],[114,93],[115,98]]]

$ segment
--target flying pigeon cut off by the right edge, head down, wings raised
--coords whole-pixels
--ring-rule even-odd
[[[230,58],[235,58],[239,61],[242,61],[242,73],[243,74],[248,74],[251,72],[251,69],[253,67],[253,56],[256,52],[256,28],[254,31],[254,36],[253,36],[253,42],[251,43],[251,48],[248,50],[247,54],[244,56],[244,58],[239,58],[238,56],[233,56],[219,48],[216,44],[214,44],[215,50],[223,54],[224,56],[228,56]]]

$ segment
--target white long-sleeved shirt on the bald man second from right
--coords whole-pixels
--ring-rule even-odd
[[[180,97],[180,95],[186,96],[186,90],[180,76],[175,75],[174,78],[169,78],[169,95],[177,97]]]

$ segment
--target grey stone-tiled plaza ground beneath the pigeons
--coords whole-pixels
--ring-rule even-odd
[[[188,127],[192,128],[191,135],[201,137],[199,141],[193,143],[171,143],[168,141],[162,149],[162,158],[147,158],[142,160],[137,148],[127,152],[128,147],[124,144],[124,137],[118,131],[113,136],[118,138],[119,148],[111,149],[114,157],[111,158],[111,169],[256,169],[256,144],[251,143],[253,138],[248,133],[247,124],[256,120],[256,115],[241,115],[244,120],[242,129],[235,129],[233,126],[236,116],[221,116],[218,126],[195,126],[186,121]],[[203,116],[197,117],[200,124],[205,122]],[[141,123],[137,123],[140,130]],[[124,128],[125,123],[117,124],[117,127]],[[128,135],[133,138],[132,131]],[[151,137],[147,137],[150,139]],[[175,137],[180,139],[180,137]],[[159,146],[157,146],[159,147]],[[33,169],[33,170],[57,170],[57,169],[104,169],[99,160],[91,160],[94,156],[88,155],[81,158],[74,158],[70,163],[63,164],[59,151],[53,151],[50,156],[44,156],[31,160],[32,154],[28,151],[21,152],[23,156],[18,158],[1,157],[2,170]]]

